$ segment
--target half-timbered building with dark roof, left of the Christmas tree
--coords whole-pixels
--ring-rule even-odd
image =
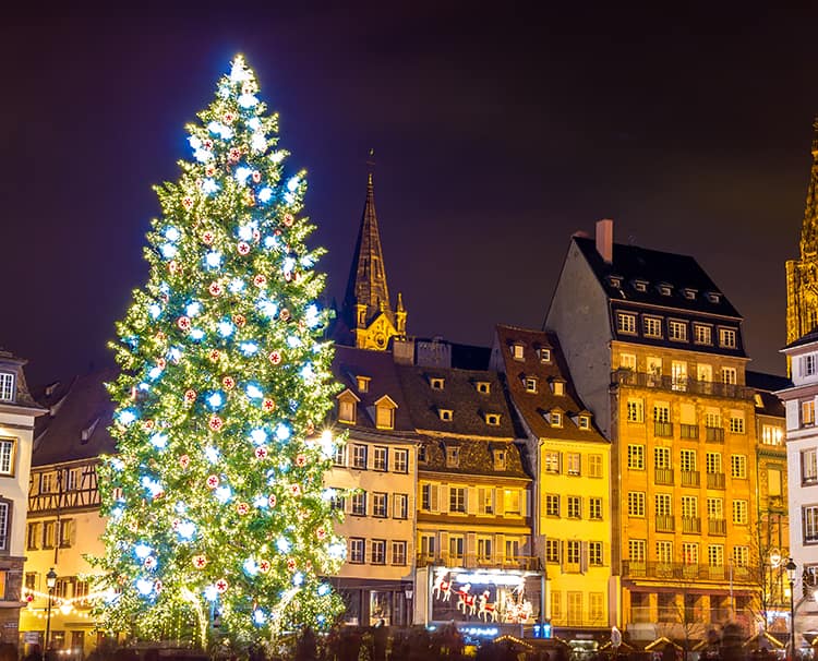
[[[86,555],[101,555],[105,519],[99,516],[96,467],[113,450],[108,434],[113,405],[104,383],[113,372],[56,383],[44,398],[49,416],[38,428],[32,455],[26,522],[24,596],[20,630],[39,634],[47,647],[76,659],[97,645],[87,600],[92,567]],[[50,591],[46,575],[57,575]]]

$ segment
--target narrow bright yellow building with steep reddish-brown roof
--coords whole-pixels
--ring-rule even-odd
[[[554,635],[610,633],[611,447],[580,402],[553,334],[497,326],[492,366],[505,375],[534,480],[537,555]]]

